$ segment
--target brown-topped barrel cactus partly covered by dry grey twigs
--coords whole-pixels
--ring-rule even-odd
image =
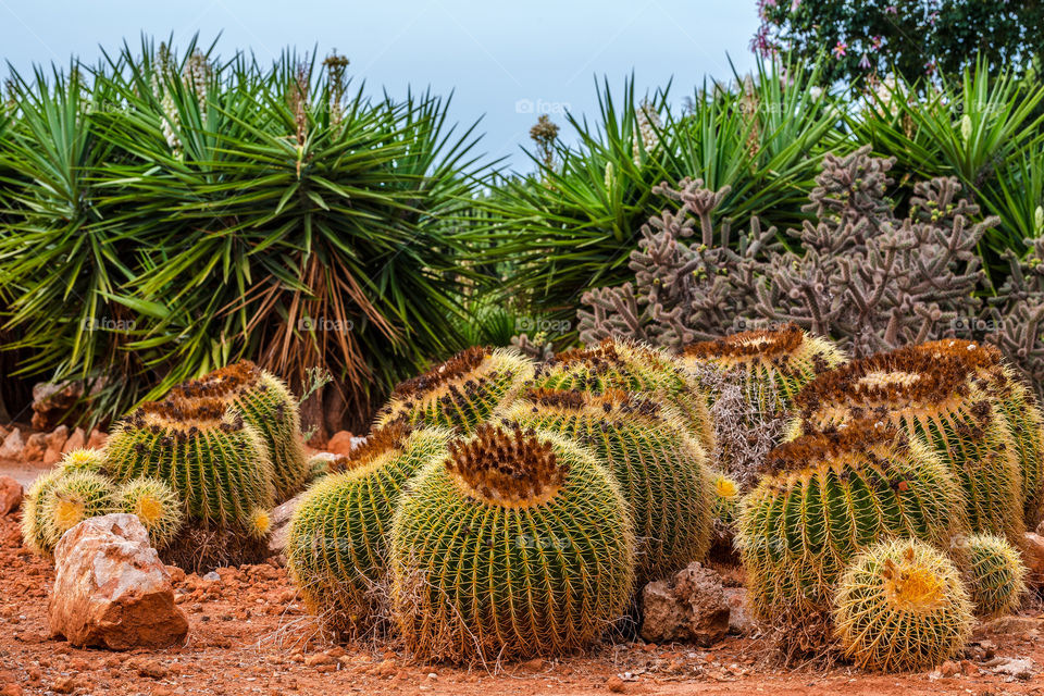
[[[794,397],[822,372],[848,361],[829,340],[791,324],[778,331],[747,331],[685,347],[686,364],[709,364],[741,374],[747,401],[765,413],[790,409]]]

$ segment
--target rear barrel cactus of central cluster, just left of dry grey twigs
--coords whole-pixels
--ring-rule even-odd
[[[534,385],[591,394],[626,391],[660,399],[678,410],[705,451],[714,448],[707,395],[681,361],[663,350],[607,338],[598,346],[558,353],[551,363],[540,366]]]

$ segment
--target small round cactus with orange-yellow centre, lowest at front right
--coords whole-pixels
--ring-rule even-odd
[[[953,562],[915,539],[878,544],[853,559],[834,597],[834,625],[858,667],[931,669],[964,648],[971,601]]]

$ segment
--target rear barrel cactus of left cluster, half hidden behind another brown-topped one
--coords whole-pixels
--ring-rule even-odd
[[[304,458],[300,409],[286,384],[271,372],[243,360],[174,387],[169,398],[220,399],[235,406],[264,438],[276,500],[286,500],[307,485],[310,471]]]

